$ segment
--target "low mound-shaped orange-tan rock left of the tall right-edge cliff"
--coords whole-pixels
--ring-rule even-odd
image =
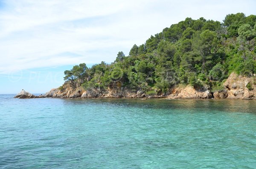
[[[174,88],[168,99],[210,99],[212,98],[211,92],[208,87],[202,87],[201,89],[195,89],[192,86],[186,86],[185,88]]]

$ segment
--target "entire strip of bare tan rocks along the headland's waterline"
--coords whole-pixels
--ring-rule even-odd
[[[231,73],[223,83],[223,89],[212,91],[210,86],[202,86],[195,89],[192,86],[174,87],[166,93],[147,95],[142,90],[131,90],[120,85],[108,87],[108,89],[84,90],[78,83],[65,82],[63,86],[51,89],[45,95],[35,96],[22,89],[15,98],[167,98],[167,99],[256,99],[256,77],[243,77]],[[248,84],[250,83],[250,88]],[[156,91],[157,92],[157,91]]]

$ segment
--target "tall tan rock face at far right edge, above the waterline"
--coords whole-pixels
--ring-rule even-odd
[[[236,73],[231,73],[225,81],[224,90],[214,92],[214,98],[228,99],[254,99],[256,97],[256,77],[243,77]]]

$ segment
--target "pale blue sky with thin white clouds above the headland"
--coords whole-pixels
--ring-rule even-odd
[[[0,0],[0,94],[45,93],[185,20],[256,14],[255,0]]]

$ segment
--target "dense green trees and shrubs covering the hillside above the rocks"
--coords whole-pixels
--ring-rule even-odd
[[[187,17],[135,44],[128,56],[118,52],[111,64],[88,69],[81,63],[66,70],[64,80],[84,89],[126,86],[163,94],[178,84],[218,88],[231,72],[256,73],[256,15],[228,14],[223,23]]]

